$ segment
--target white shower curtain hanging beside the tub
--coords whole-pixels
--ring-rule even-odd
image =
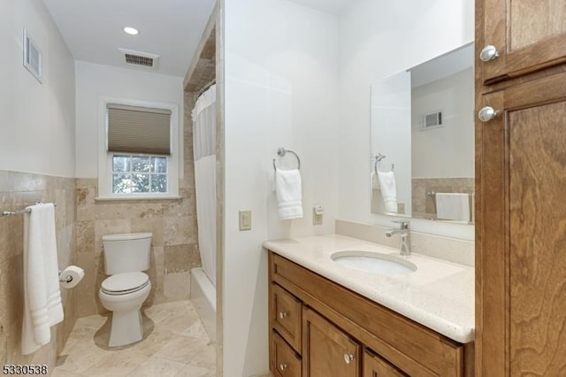
[[[203,270],[216,287],[216,85],[198,97],[193,110],[196,219]]]

